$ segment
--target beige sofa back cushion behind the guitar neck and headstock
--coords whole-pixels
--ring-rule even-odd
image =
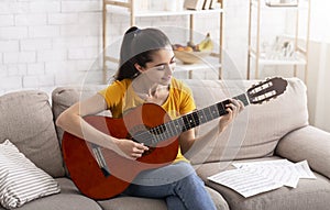
[[[286,133],[308,124],[307,97],[304,82],[288,78],[286,91],[263,104],[244,109],[217,141],[196,155],[194,164],[272,156]],[[197,108],[241,95],[257,81],[252,80],[186,80],[193,89]],[[200,126],[198,135],[216,126],[212,121]]]

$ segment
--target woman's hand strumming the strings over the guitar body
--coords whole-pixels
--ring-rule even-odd
[[[142,143],[133,142],[132,140],[121,139],[118,140],[116,144],[119,148],[119,152],[117,150],[116,152],[130,159],[142,157],[142,154],[148,151],[147,146],[144,146]]]

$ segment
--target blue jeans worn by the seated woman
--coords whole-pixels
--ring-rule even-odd
[[[186,162],[142,172],[124,194],[164,198],[168,210],[216,210],[204,181]]]

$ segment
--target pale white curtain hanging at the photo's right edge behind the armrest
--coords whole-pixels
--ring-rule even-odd
[[[308,97],[311,124],[330,132],[330,1],[311,0]]]

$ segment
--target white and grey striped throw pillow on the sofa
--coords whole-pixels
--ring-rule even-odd
[[[59,192],[58,183],[36,167],[9,140],[0,144],[0,202],[13,209]]]

